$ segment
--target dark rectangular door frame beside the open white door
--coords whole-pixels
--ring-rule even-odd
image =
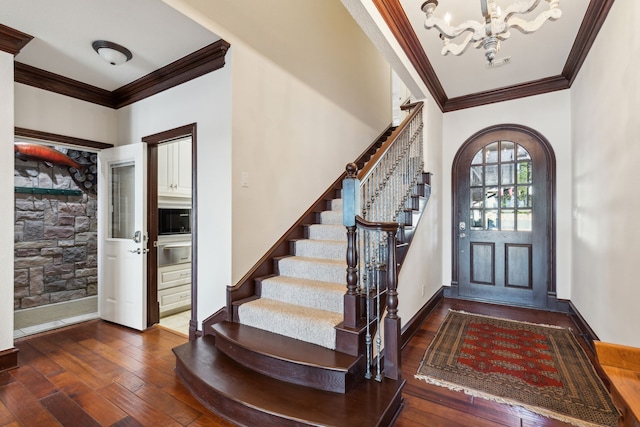
[[[158,144],[191,136],[191,320],[189,339],[196,338],[198,329],[198,185],[197,185],[197,124],[145,136],[147,143],[147,227],[150,251],[147,258],[147,326],[160,321],[158,303],[158,257],[151,242],[158,240]]]

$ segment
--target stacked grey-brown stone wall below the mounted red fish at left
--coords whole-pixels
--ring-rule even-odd
[[[15,194],[14,309],[97,295],[96,194],[79,187],[65,166],[19,159],[14,184],[82,191]]]

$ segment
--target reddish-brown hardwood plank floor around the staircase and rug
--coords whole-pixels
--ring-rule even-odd
[[[396,427],[569,425],[414,379],[449,309],[574,327],[559,313],[445,299],[403,350],[407,384]],[[99,320],[20,339],[19,367],[0,373],[0,426],[232,426],[176,377],[171,349],[186,341],[158,327],[137,332]]]

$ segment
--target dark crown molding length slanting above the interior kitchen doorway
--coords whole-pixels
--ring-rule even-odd
[[[229,43],[218,40],[184,58],[162,67],[113,92],[115,108],[121,108],[197,77],[220,69],[225,65]]]

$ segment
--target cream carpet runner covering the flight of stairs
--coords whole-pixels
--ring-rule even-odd
[[[239,323],[335,350],[343,320],[347,234],[342,199],[329,202],[293,256],[275,260],[276,275],[258,279],[260,298],[238,307]]]

